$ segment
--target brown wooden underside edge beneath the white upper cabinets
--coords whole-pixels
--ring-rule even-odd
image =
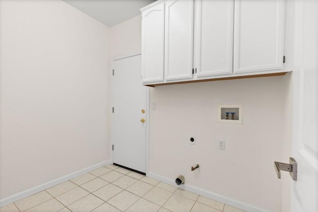
[[[228,80],[228,79],[244,79],[244,78],[265,77],[265,76],[282,76],[282,75],[285,75],[286,73],[287,72],[264,73],[264,74],[255,74],[255,75],[246,75],[246,76],[230,76],[230,77],[221,77],[221,78],[213,78],[213,79],[198,79],[198,80],[189,80],[189,81],[181,81],[181,82],[150,84],[150,85],[146,85],[146,86],[155,87],[155,86],[159,86],[159,85],[185,84],[185,83],[193,83],[193,82],[208,82],[208,81],[219,81],[219,80]]]

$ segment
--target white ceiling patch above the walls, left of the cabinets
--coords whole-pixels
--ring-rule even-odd
[[[137,15],[140,8],[156,0],[63,0],[106,26],[114,26]]]

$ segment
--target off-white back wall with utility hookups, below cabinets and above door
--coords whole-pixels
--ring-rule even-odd
[[[140,28],[139,16],[112,27],[111,55],[141,51]],[[274,161],[290,154],[289,86],[290,74],[151,88],[156,111],[150,111],[148,171],[173,181],[182,174],[187,185],[288,211],[290,177],[282,173],[279,180]],[[218,104],[242,104],[243,124],[219,124]],[[196,145],[188,144],[192,135]],[[225,150],[217,148],[218,139]],[[200,168],[190,171],[197,163]]]

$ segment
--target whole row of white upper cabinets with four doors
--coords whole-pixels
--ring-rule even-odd
[[[293,55],[290,10],[285,0],[157,0],[141,9],[142,82],[283,75]]]

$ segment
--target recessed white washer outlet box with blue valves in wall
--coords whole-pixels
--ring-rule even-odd
[[[224,104],[218,107],[219,123],[242,124],[242,105]]]

